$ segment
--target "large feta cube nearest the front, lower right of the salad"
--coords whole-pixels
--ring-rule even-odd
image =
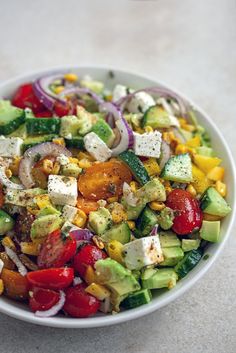
[[[123,247],[124,260],[129,270],[140,270],[144,266],[163,261],[158,235],[134,240]]]

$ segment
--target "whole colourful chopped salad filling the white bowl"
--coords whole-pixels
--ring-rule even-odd
[[[0,294],[35,315],[147,304],[220,241],[221,159],[161,87],[58,73],[0,100]]]

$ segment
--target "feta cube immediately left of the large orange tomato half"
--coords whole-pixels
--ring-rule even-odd
[[[75,206],[77,202],[77,179],[62,175],[49,175],[48,193],[55,205]]]

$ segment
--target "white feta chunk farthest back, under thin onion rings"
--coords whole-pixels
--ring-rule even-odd
[[[138,92],[131,98],[126,108],[130,113],[145,113],[153,105],[156,103],[150,94]]]

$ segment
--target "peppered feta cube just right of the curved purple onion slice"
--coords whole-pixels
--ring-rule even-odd
[[[161,133],[159,131],[134,133],[134,153],[137,156],[159,158],[161,154]]]

